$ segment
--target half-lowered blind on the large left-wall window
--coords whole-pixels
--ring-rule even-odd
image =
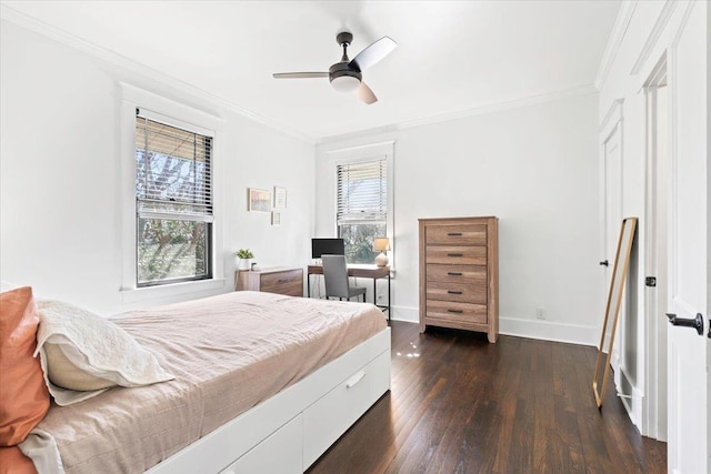
[[[139,218],[212,222],[211,153],[211,137],[137,114]]]

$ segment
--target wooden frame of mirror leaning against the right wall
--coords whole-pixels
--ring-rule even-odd
[[[627,218],[622,221],[620,229],[620,239],[618,240],[618,251],[614,255],[614,268],[612,269],[612,280],[610,281],[610,292],[608,293],[608,304],[604,310],[604,322],[602,323],[602,335],[600,336],[600,345],[598,346],[598,359],[595,361],[595,373],[592,377],[592,391],[595,394],[595,403],[598,409],[602,409],[604,392],[608,387],[608,377],[610,376],[610,359],[612,357],[612,346],[614,344],[614,331],[618,326],[620,316],[620,305],[624,292],[624,283],[627,281],[627,272],[630,266],[630,253],[632,243],[634,242],[634,231],[637,229],[637,218]],[[608,330],[612,316],[612,326],[610,332],[610,344],[608,346],[608,356],[604,355],[604,335]],[[604,365],[602,365],[604,363]],[[598,377],[600,371],[602,375],[602,390],[598,390]]]

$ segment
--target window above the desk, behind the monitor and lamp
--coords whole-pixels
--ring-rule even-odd
[[[385,158],[338,164],[337,225],[350,263],[373,263],[373,239],[388,235]]]

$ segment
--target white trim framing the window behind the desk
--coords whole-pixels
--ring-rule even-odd
[[[339,234],[338,229],[338,167],[342,164],[363,163],[369,161],[387,161],[388,172],[388,215],[385,218],[387,238],[390,239],[390,270],[395,268],[395,240],[394,240],[394,141],[371,143],[360,147],[350,147],[328,152],[331,164],[331,177],[333,183],[333,234]]]

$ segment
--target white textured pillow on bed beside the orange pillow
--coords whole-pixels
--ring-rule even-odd
[[[111,321],[72,304],[38,302],[37,351],[58,405],[90,399],[114,385],[142,386],[174,379],[149,351]]]

